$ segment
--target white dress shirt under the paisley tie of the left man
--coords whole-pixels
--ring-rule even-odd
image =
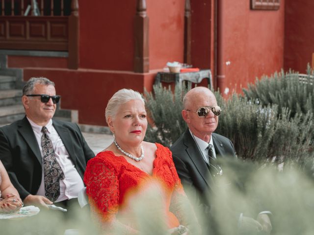
[[[43,148],[41,146],[41,137],[43,133],[41,132],[42,126],[35,124],[29,118],[27,118],[33,132],[35,134],[41,157],[43,158]],[[60,196],[57,198],[55,202],[61,202],[64,200],[72,199],[78,197],[78,192],[84,188],[84,183],[80,175],[78,174],[77,169],[75,168],[74,164],[72,163],[69,153],[66,150],[60,136],[54,129],[52,125],[52,120],[48,122],[46,125],[47,127],[47,134],[49,139],[52,141],[53,149],[55,158],[61,166],[61,169],[64,173],[64,179],[60,180]],[[36,195],[45,196],[45,186],[44,186],[44,168],[42,171],[42,180],[40,187],[36,193]]]

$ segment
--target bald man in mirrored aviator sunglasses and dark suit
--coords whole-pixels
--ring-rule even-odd
[[[209,234],[219,234],[214,212],[219,205],[213,205],[210,201],[213,195],[217,195],[219,179],[223,175],[223,167],[217,164],[217,159],[236,159],[233,143],[228,138],[213,133],[221,112],[214,94],[208,88],[191,89],[183,97],[182,110],[188,129],[170,148],[187,195],[200,206],[202,218],[199,220],[204,221],[203,226],[206,227],[204,234],[209,231]],[[228,222],[239,225],[242,234],[255,234],[261,230],[270,233],[271,223],[265,213],[261,213],[257,221],[235,212],[234,221]]]

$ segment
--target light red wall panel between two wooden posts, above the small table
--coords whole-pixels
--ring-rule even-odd
[[[150,69],[183,63],[184,0],[147,0]]]

